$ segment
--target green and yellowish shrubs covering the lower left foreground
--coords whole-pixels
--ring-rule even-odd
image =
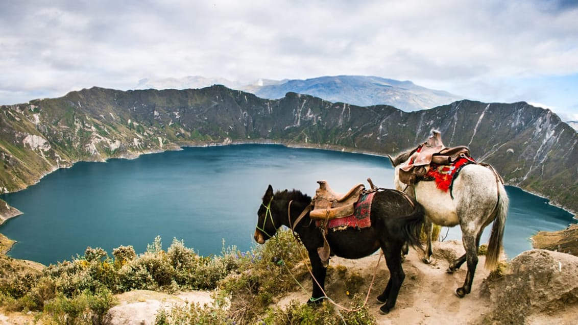
[[[277,297],[299,289],[298,282],[309,279],[305,248],[288,230],[278,231],[265,245],[248,252],[223,244],[220,255],[203,257],[176,238],[164,251],[161,237],[156,237],[140,255],[132,246],[120,246],[112,256],[88,247],[84,256],[45,267],[41,274],[5,276],[0,279],[0,302],[11,310],[43,311],[46,324],[100,324],[116,304],[114,293],[217,289],[214,305],[160,311],[157,324],[336,324],[340,319],[370,324],[361,322],[363,310],[352,315],[342,312],[336,322],[336,311],[327,304],[316,309],[296,303],[286,310],[271,309]],[[358,275],[347,275],[346,287],[355,287]]]

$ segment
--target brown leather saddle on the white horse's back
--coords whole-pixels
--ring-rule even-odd
[[[399,167],[399,180],[407,185],[423,180],[431,164],[451,165],[456,160],[470,157],[469,148],[464,145],[448,148],[442,143],[438,130],[432,130],[432,135],[425,143],[420,144],[406,162]]]

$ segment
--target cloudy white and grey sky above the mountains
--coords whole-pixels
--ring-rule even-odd
[[[0,104],[144,78],[355,74],[578,119],[575,0],[0,3]]]

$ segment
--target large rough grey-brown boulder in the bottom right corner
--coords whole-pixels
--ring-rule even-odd
[[[487,324],[578,324],[578,257],[533,249],[516,256],[507,274],[484,281]]]

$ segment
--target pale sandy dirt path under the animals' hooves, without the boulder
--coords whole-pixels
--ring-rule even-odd
[[[484,269],[484,256],[479,257],[479,264],[474,278],[472,293],[465,298],[458,298],[454,292],[465,279],[465,265],[454,274],[448,274],[446,257],[453,259],[464,252],[461,242],[440,242],[435,247],[436,258],[431,264],[424,264],[418,252],[410,249],[403,263],[406,278],[399,292],[395,308],[388,315],[380,315],[376,297],[386,286],[389,272],[386,263],[381,259],[376,280],[368,299],[370,311],[380,325],[388,324],[469,324],[476,323],[480,316],[490,310],[490,299],[481,294],[481,282],[488,276]],[[379,255],[372,255],[359,260],[347,260],[332,257],[329,262],[334,269],[339,266],[347,268],[346,277],[359,275],[366,279],[358,289],[358,294],[365,297],[369,283],[375,272]],[[329,272],[327,294],[338,304],[349,307],[351,298],[347,296],[343,279],[336,279],[336,272]],[[292,300],[306,301],[310,295],[310,281],[303,283],[308,292],[294,292],[281,299],[278,304],[287,305]],[[351,296],[351,293],[350,293]]]

